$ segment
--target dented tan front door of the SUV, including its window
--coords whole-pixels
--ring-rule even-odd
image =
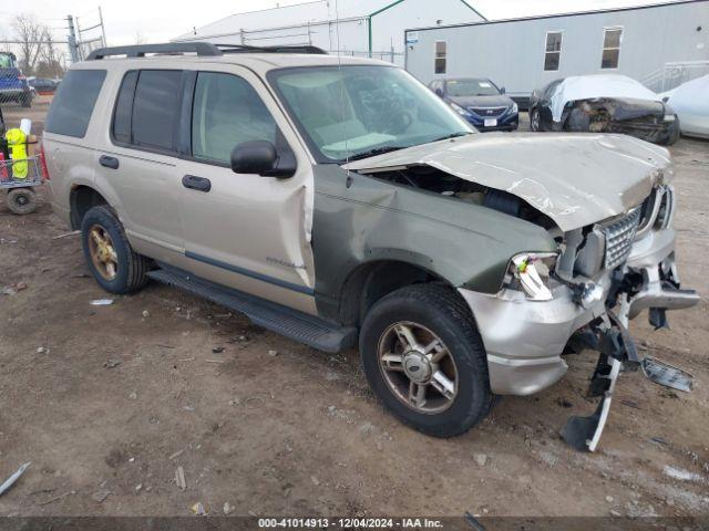
[[[191,122],[191,156],[179,163],[179,211],[189,270],[317,313],[310,247],[312,165],[263,81],[233,65],[198,72]],[[249,140],[291,149],[298,160],[296,175],[278,179],[235,174],[232,150]]]

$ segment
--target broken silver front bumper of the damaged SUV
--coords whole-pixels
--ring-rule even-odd
[[[693,291],[678,290],[662,280],[661,271],[677,280],[675,231],[653,231],[634,243],[624,272],[641,278],[619,315],[624,321],[645,309],[676,310],[697,304]],[[503,290],[497,294],[460,289],[470,305],[487,352],[490,386],[499,395],[531,395],[564,376],[567,365],[562,353],[582,327],[607,314],[606,300],[614,288],[610,273],[595,283],[603,299],[590,308],[573,300],[572,290],[557,285],[551,301],[528,301],[524,293]]]

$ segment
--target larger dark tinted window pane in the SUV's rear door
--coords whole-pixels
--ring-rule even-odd
[[[133,144],[161,150],[175,150],[181,80],[182,72],[177,70],[141,71],[133,101],[131,127]]]

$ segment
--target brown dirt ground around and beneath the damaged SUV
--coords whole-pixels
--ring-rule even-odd
[[[37,132],[45,110],[32,110]],[[671,152],[679,270],[706,294],[709,143]],[[25,217],[0,202],[0,288],[27,285],[0,294],[0,481],[32,462],[0,514],[181,516],[197,501],[251,516],[709,514],[706,300],[670,314],[671,330],[634,322],[641,353],[693,373],[695,389],[621,375],[596,454],[558,435],[595,407],[590,352],[559,384],[439,440],[383,410],[356,352],[319,353],[155,283],[91,305],[106,293],[79,239],[53,239],[68,229],[44,197]]]

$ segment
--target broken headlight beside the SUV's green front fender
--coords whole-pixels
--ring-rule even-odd
[[[554,295],[549,277],[557,257],[555,252],[525,252],[513,257],[505,275],[505,288],[521,289],[530,301],[551,301]]]

